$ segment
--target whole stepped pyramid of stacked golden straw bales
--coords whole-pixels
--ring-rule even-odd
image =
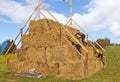
[[[28,73],[31,68],[41,71],[43,76],[52,75],[68,79],[88,77],[102,68],[101,61],[94,57],[94,49],[85,46],[88,54],[72,44],[62,24],[48,19],[33,20],[29,34],[22,36],[22,47],[17,50],[17,59],[10,62],[9,69],[17,73]],[[78,30],[64,26],[72,35]]]

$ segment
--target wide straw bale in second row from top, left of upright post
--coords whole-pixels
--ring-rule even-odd
[[[33,35],[33,34],[32,34]],[[47,31],[44,34],[35,34],[34,37],[31,37],[29,42],[29,46],[33,47],[35,46],[36,48],[41,48],[41,47],[54,47],[59,45],[60,43],[60,35],[54,31]]]

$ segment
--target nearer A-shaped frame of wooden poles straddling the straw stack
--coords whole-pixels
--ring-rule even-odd
[[[72,1],[72,0],[71,0]],[[27,30],[23,33],[23,30],[25,29],[25,26],[29,23],[29,21],[31,20],[31,18],[33,17],[33,14],[40,8],[43,8],[56,22],[59,22],[48,10],[47,8],[45,8],[45,6],[43,6],[43,4],[40,2],[40,0],[38,0],[38,5],[35,7],[34,11],[32,12],[32,14],[29,16],[29,18],[27,19],[27,21],[25,22],[25,24],[22,26],[20,32],[18,33],[18,35],[16,36],[16,38],[14,39],[13,43],[10,45],[10,47],[7,49],[7,51],[5,52],[5,60],[6,60],[6,64],[8,66],[8,63],[9,63],[9,60],[10,60],[10,57],[11,57],[11,54],[10,55],[7,55],[9,50],[11,49],[11,47],[13,46],[13,44],[17,41],[18,37],[21,36],[21,35],[24,35],[28,32],[28,28]],[[42,13],[41,11],[39,12],[39,15],[43,15],[45,18],[47,18],[44,13]],[[71,16],[71,19],[72,19],[72,16]],[[72,24],[72,23],[71,23]],[[56,28],[57,29],[57,28]],[[65,28],[63,25],[61,25],[61,30],[64,29],[70,36],[71,38],[73,38],[85,51],[88,52],[88,50],[75,38],[74,35],[72,35],[67,28]],[[61,32],[60,32],[61,33]],[[21,42],[21,39],[17,42],[17,45],[18,46]],[[80,53],[79,53],[80,54]],[[82,56],[82,54],[80,54]],[[82,56],[83,57],[83,56]]]

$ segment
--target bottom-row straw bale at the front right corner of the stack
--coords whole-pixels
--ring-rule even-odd
[[[69,61],[64,65],[61,65],[60,74],[58,77],[64,77],[69,79],[80,79],[84,77],[83,63],[81,61]]]

